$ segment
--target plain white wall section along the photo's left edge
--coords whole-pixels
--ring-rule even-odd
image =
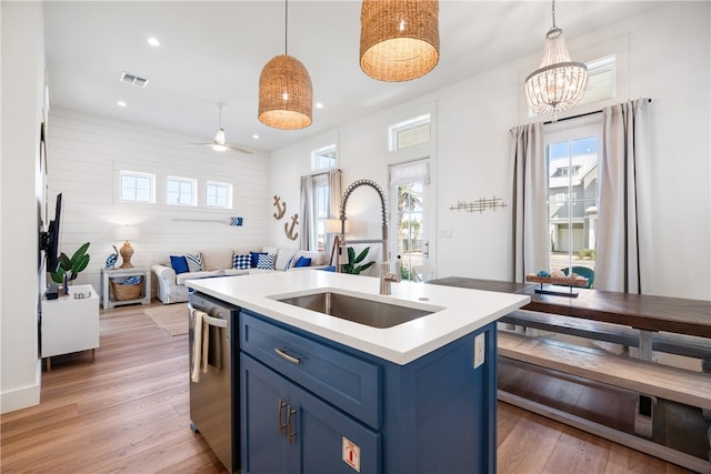
[[[39,137],[44,98],[41,2],[1,2],[0,412],[40,401]],[[38,189],[40,188],[40,189]]]

